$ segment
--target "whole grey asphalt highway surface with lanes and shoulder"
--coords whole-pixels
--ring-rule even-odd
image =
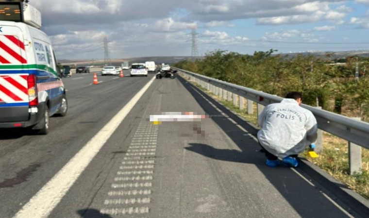
[[[128,74],[63,78],[46,136],[1,130],[1,218],[365,217],[303,168],[265,166],[257,130],[184,79]],[[208,118],[149,122],[186,111]]]

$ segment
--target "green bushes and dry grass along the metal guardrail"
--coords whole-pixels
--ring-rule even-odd
[[[344,116],[360,117],[368,122],[369,76],[366,75],[366,68],[369,68],[369,58],[334,60],[333,53],[326,53],[324,58],[312,55],[288,58],[273,55],[274,52],[270,49],[255,52],[254,55],[241,55],[217,50],[206,54],[202,60],[182,61],[175,66],[281,97],[290,91],[302,92],[304,104],[320,106]],[[359,66],[358,79],[356,66]],[[247,114],[246,110],[236,108],[232,102],[209,94],[257,125],[256,114]],[[304,157],[369,199],[368,149],[362,149],[362,173],[356,175],[349,175],[348,142],[332,134],[323,132],[323,150],[318,158]]]

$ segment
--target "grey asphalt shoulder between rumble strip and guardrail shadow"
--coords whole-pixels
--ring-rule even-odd
[[[182,84],[173,83],[170,89],[167,86],[161,91],[167,93],[163,111],[218,115],[204,111]],[[152,196],[153,217],[273,217],[275,211],[265,205],[265,193],[259,191],[270,184],[255,166],[233,161],[246,157],[212,119],[164,122],[158,144],[163,158],[155,166],[153,189],[158,191]],[[293,208],[281,204],[278,206],[283,206],[283,211],[279,215],[294,217]]]

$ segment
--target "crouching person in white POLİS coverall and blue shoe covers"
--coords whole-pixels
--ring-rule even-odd
[[[257,133],[264,148],[266,164],[276,167],[278,157],[289,167],[298,167],[297,156],[317,140],[317,120],[310,110],[300,107],[302,94],[287,93],[280,103],[266,106],[259,115]]]

